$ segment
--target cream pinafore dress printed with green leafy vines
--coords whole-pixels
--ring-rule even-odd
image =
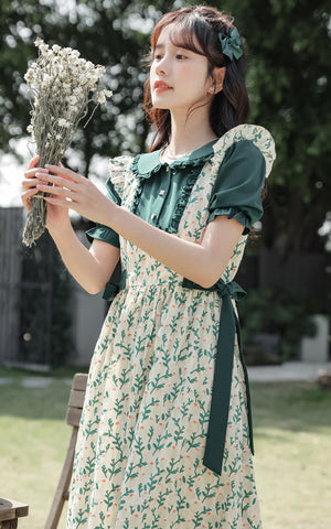
[[[174,236],[199,244],[226,151],[247,140],[263,154],[264,176],[269,173],[270,134],[256,126],[232,129],[199,169]],[[110,180],[121,206],[134,210],[140,180],[134,177],[132,160],[113,161]],[[215,215],[248,223],[244,206],[227,206]],[[226,284],[242,260],[246,231],[222,277]],[[223,299],[217,291],[185,288],[183,277],[122,238],[120,250],[125,284],[92,359],[67,529],[259,529],[237,336],[222,472],[203,462]]]

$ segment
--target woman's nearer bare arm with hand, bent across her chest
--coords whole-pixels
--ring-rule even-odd
[[[49,204],[72,208],[81,215],[109,226],[141,250],[204,288],[214,284],[224,269],[243,233],[243,226],[225,216],[209,224],[200,245],[162,231],[130,212],[115,205],[84,176],[71,170],[46,165],[53,174],[36,173],[43,182],[38,185],[51,193]]]

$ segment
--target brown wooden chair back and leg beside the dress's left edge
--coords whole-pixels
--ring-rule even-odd
[[[66,413],[66,423],[73,427],[73,433],[70,440],[53,504],[49,514],[47,521],[45,523],[45,529],[56,529],[64,501],[68,499],[68,487],[73,472],[75,447],[84,404],[86,384],[87,375],[76,373],[73,379]]]

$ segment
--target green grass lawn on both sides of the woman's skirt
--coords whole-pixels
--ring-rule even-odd
[[[71,436],[72,373],[52,374],[39,389],[22,386],[31,376],[0,369],[0,378],[11,379],[0,386],[0,496],[29,504],[20,529],[43,529]],[[252,397],[264,529],[329,528],[331,391],[314,384],[254,384]]]

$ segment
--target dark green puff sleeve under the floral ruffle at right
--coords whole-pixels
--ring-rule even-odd
[[[228,147],[212,192],[209,223],[225,215],[244,226],[244,235],[249,233],[263,215],[260,194],[265,176],[265,158],[250,140]]]

